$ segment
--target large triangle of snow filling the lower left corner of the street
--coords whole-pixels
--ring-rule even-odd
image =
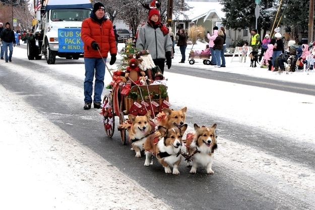
[[[0,209],[171,209],[3,86],[0,98]]]

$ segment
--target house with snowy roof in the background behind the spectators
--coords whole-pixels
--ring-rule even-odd
[[[221,27],[222,18],[225,14],[222,12],[223,5],[218,0],[185,0],[188,8],[185,11],[185,16],[180,15],[173,17],[173,30],[187,29],[190,26],[203,26],[206,31],[212,33],[213,27]],[[250,31],[248,29],[226,29],[226,44],[227,47],[232,47],[233,41],[240,38],[250,41]]]

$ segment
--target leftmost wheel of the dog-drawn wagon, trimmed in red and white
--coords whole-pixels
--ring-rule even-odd
[[[113,136],[114,134],[114,127],[115,127],[115,114],[114,109],[112,107],[112,101],[108,96],[104,97],[103,100],[103,122],[104,122],[104,128],[105,132],[108,137]]]

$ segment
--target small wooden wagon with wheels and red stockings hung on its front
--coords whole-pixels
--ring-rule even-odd
[[[162,112],[164,107],[168,108],[167,88],[164,85],[142,85],[133,86],[128,96],[121,93],[120,86],[114,86],[110,94],[103,99],[103,123],[108,137],[112,137],[115,128],[115,116],[119,117],[119,125],[128,119],[128,114],[145,115],[151,110],[151,117]],[[126,128],[117,126],[120,131],[122,144],[126,144]]]

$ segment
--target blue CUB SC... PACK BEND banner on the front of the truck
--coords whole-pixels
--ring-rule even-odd
[[[83,53],[83,41],[80,28],[58,29],[58,52],[80,52]]]

